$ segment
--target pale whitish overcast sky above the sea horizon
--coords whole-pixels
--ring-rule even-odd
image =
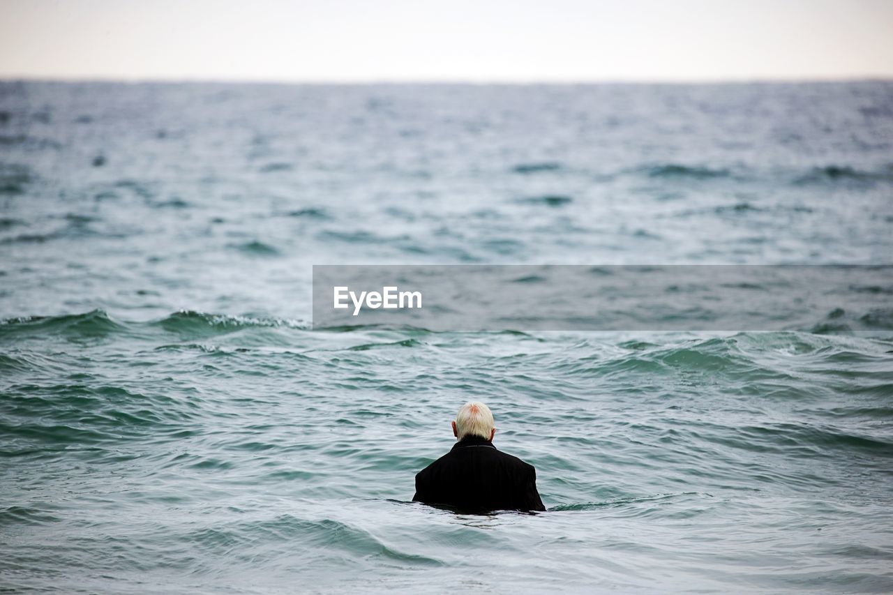
[[[0,78],[893,78],[893,0],[0,0]]]

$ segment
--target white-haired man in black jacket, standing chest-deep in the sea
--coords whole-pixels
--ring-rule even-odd
[[[546,510],[533,465],[497,450],[496,432],[488,406],[465,403],[453,422],[458,441],[416,474],[413,500],[463,512]]]

